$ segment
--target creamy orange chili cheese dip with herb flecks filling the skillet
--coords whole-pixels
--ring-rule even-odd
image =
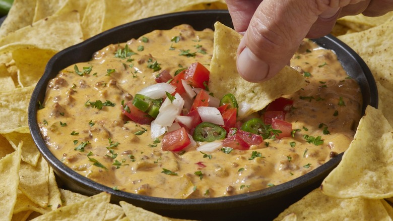
[[[111,44],[91,61],[65,68],[48,83],[37,112],[48,148],[95,182],[166,198],[220,197],[269,188],[300,177],[347,149],[361,117],[360,88],[333,51],[305,40],[291,66],[309,84],[273,101],[276,106],[290,101],[281,112],[269,105],[236,123],[241,131],[246,122],[252,128],[255,119],[265,123],[285,119],[292,125],[289,134],[271,130],[247,148],[224,144],[216,151],[201,151],[197,147],[206,142],[191,139],[192,145],[180,151],[163,150],[165,135],[152,138],[150,122],[130,120],[124,112],[127,103],[156,80],[162,82],[160,78],[168,74],[171,79],[195,62],[209,69],[212,53],[212,30],[180,25]],[[192,131],[186,132],[193,135]]]

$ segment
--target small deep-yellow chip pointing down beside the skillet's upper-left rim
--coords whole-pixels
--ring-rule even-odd
[[[22,87],[35,86],[45,71],[49,59],[57,51],[36,47],[22,47],[12,51],[15,65],[19,68],[18,81]],[[40,59],[37,59],[40,58]]]

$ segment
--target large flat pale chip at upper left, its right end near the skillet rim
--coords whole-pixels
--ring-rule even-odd
[[[31,44],[59,51],[82,40],[79,13],[73,11],[47,17],[0,38],[0,51],[9,51],[15,44]]]

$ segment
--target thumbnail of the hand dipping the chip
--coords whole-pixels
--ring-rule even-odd
[[[237,57],[237,71],[240,76],[250,82],[267,80],[269,65],[255,56],[248,47],[245,47]]]

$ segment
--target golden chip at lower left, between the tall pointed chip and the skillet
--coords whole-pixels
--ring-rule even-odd
[[[19,189],[23,194],[41,207],[48,206],[49,165],[42,156],[39,157],[36,167],[22,161],[19,179]]]

